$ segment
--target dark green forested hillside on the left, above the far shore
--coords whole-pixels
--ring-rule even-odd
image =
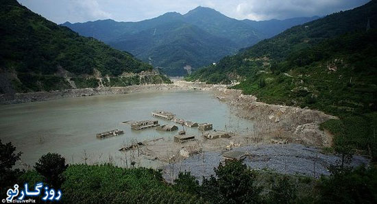
[[[15,0],[1,1],[0,44],[1,92],[72,88],[64,76],[86,81],[152,70],[130,53],[47,21]]]

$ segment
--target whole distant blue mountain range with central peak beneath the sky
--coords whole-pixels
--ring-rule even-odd
[[[260,28],[264,30],[260,31],[254,28],[253,21],[238,21],[216,10],[198,7],[184,15],[169,12],[140,22],[104,20],[66,22],[62,25],[83,36],[97,38],[114,48],[128,51],[144,62],[162,68],[169,75],[182,76],[187,73],[184,67],[199,68],[217,62],[291,25],[312,19],[287,20],[287,23],[273,27],[269,25],[278,20],[273,20],[272,24],[261,21],[263,25]]]

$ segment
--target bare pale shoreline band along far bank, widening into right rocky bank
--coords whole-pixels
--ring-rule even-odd
[[[331,146],[332,136],[319,130],[319,124],[335,116],[317,110],[300,107],[272,105],[258,102],[252,95],[244,95],[241,90],[228,89],[226,85],[205,84],[175,80],[173,84],[153,84],[112,88],[84,88],[51,92],[29,92],[0,95],[0,104],[29,103],[53,99],[90,97],[108,94],[129,94],[142,91],[162,90],[205,90],[214,92],[215,97],[230,106],[240,118],[255,121],[254,130],[243,135],[242,140],[262,144],[297,143],[308,146]]]

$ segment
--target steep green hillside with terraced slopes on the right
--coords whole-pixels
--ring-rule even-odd
[[[377,158],[377,1],[284,31],[189,80],[225,83],[267,103],[339,116],[321,126],[335,147]]]

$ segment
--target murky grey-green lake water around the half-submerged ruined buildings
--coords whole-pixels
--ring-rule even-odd
[[[155,129],[132,131],[129,125],[121,123],[157,119],[151,116],[153,110],[167,110],[178,118],[197,123],[213,123],[214,129],[252,128],[251,121],[230,114],[229,106],[210,92],[161,91],[3,105],[0,106],[0,139],[11,141],[17,151],[23,152],[21,161],[32,166],[48,152],[60,153],[70,163],[82,163],[84,157],[88,157],[88,163],[107,162],[111,157],[114,164],[121,165],[124,156],[118,149],[123,144],[161,137],[172,140],[177,134],[177,131]],[[161,125],[175,124],[158,120]],[[95,137],[96,133],[112,129],[122,129],[125,134],[104,140]],[[197,136],[202,134],[197,128],[186,128],[186,131]],[[155,165],[143,163],[143,166]]]

